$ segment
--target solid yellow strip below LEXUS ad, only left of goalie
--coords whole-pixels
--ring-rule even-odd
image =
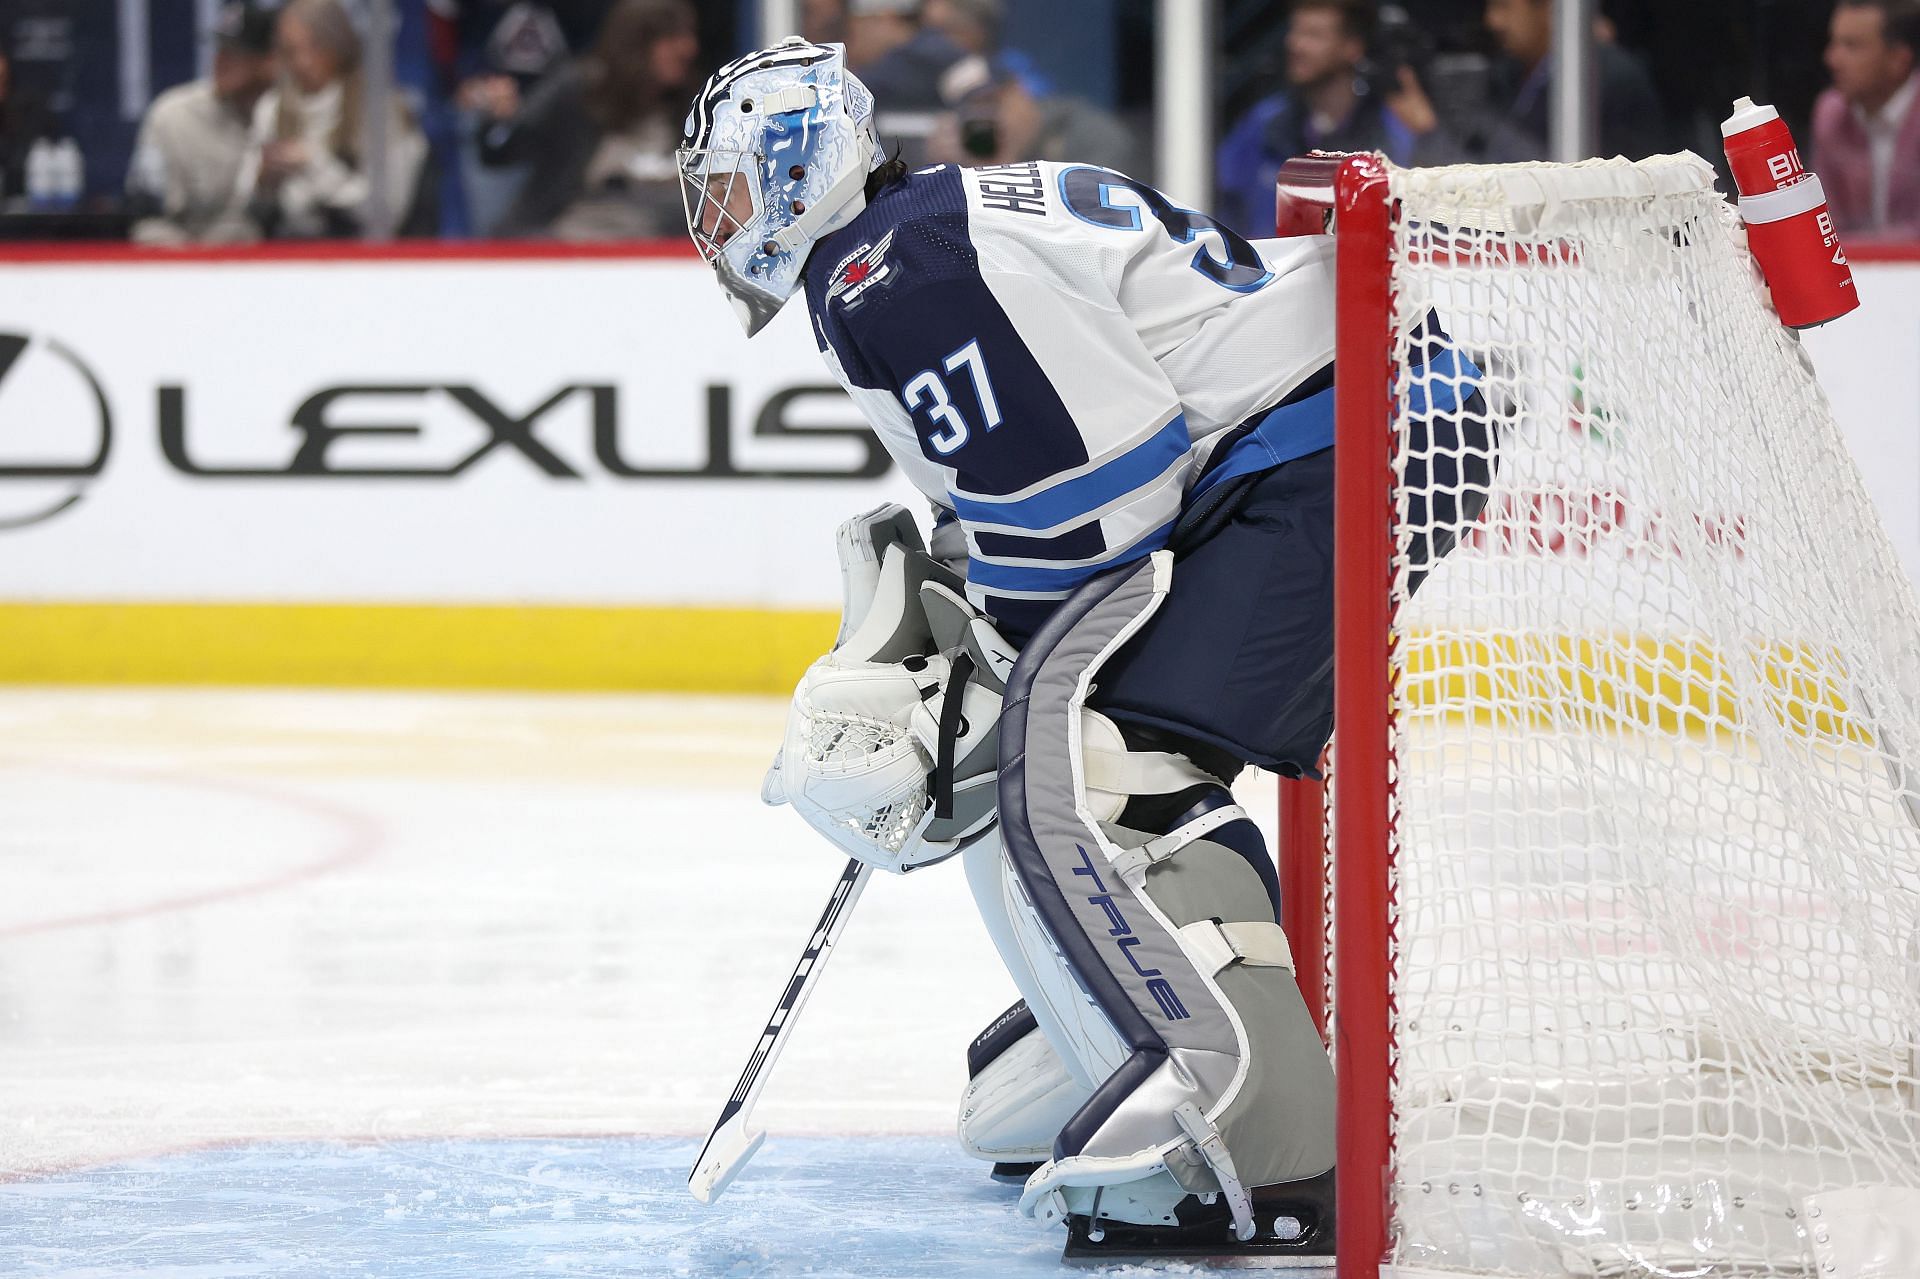
[[[772,609],[4,603],[0,682],[787,693],[835,626]]]

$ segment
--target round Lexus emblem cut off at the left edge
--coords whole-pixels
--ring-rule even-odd
[[[113,411],[86,361],[44,334],[0,332],[0,532],[77,503],[111,447]]]

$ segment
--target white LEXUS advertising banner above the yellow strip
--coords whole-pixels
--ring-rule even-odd
[[[924,507],[687,259],[0,267],[0,599],[829,609]]]

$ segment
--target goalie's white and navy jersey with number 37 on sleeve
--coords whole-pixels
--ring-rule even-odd
[[[1332,444],[1332,240],[1248,242],[1108,169],[941,165],[828,236],[814,334],[1029,634],[1213,484]]]

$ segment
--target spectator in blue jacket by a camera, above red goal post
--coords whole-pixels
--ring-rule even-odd
[[[1296,0],[1286,23],[1286,88],[1256,102],[1215,156],[1217,217],[1246,234],[1271,234],[1273,179],[1311,150],[1386,152],[1394,163],[1436,163],[1440,121],[1411,67],[1390,92],[1361,77],[1373,44],[1371,0]]]

